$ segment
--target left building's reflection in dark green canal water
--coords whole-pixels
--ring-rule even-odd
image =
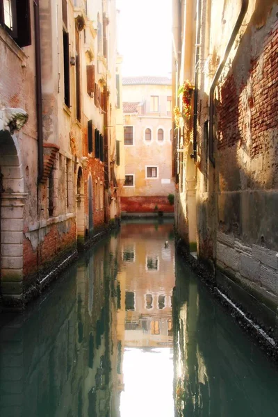
[[[33,311],[1,328],[1,417],[112,415],[114,261],[108,244],[88,252]]]

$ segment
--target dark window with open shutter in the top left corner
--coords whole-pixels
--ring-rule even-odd
[[[30,1],[0,0],[0,24],[19,47],[31,45]]]

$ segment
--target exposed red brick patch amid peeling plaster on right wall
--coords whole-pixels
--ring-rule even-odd
[[[250,156],[268,152],[265,131],[277,128],[278,25],[265,38],[262,54],[251,60],[249,77],[238,91],[231,74],[220,90],[218,149],[245,141],[250,129]],[[250,58],[251,59],[251,58]],[[247,112],[250,110],[251,124]],[[241,145],[241,143],[240,143]]]

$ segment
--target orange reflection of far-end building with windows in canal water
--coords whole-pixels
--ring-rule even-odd
[[[121,233],[120,278],[124,346],[172,346],[174,250],[167,224],[124,224]]]

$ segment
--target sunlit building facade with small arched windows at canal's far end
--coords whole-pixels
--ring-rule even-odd
[[[121,193],[126,213],[174,211],[171,81],[164,77],[124,77],[125,182]]]

